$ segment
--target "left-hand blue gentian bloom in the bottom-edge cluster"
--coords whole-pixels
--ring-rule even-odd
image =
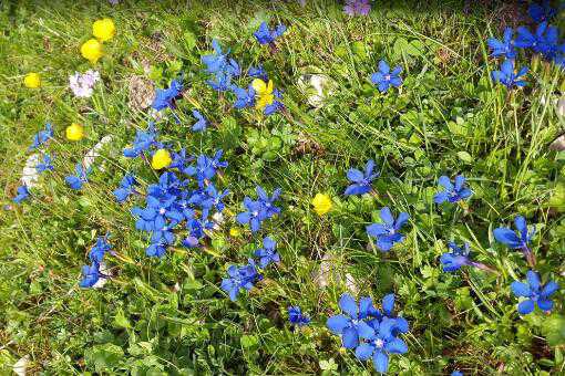
[[[339,299],[339,307],[345,314],[329,317],[326,325],[331,333],[341,335],[343,347],[355,348],[359,345],[359,338],[369,338],[374,335],[374,330],[363,321],[378,314],[370,297],[361,297],[358,305],[353,296],[342,294]]]

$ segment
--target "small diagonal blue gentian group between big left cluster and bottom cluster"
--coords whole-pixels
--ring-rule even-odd
[[[267,268],[270,263],[279,263],[280,257],[276,252],[277,243],[270,239],[263,239],[263,248],[255,251],[254,255],[259,259],[260,269]],[[245,265],[230,265],[227,269],[227,276],[222,281],[224,290],[232,301],[237,299],[239,291],[251,290],[256,282],[263,280],[254,259],[249,259]]]

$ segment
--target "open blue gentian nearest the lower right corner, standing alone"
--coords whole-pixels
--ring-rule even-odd
[[[527,297],[527,300],[520,302],[517,306],[520,314],[532,313],[536,304],[540,310],[549,312],[553,309],[553,301],[549,297],[559,290],[559,285],[554,281],[549,281],[542,286],[540,274],[533,270],[526,273],[526,280],[527,283],[514,281],[511,284],[512,292],[516,297]]]

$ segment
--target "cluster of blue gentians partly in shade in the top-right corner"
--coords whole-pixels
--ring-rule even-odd
[[[518,55],[516,49],[530,49],[547,61],[554,62],[561,67],[565,66],[565,44],[559,40],[559,30],[557,27],[548,24],[548,21],[556,14],[555,9],[549,6],[548,1],[545,1],[542,4],[532,3],[528,12],[532,19],[538,23],[533,32],[526,27],[520,27],[515,32],[512,28],[506,28],[502,40],[495,38],[487,40],[491,55],[505,58],[501,69],[491,72],[491,77],[494,82],[508,88],[522,87],[527,84],[523,80],[528,72],[527,66],[521,67],[517,72],[515,70],[515,60]]]

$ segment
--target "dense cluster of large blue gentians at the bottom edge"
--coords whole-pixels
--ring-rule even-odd
[[[341,336],[343,347],[355,348],[358,359],[372,358],[377,372],[389,369],[390,354],[408,352],[399,335],[407,333],[409,325],[405,318],[394,315],[394,294],[383,297],[382,312],[374,307],[371,297],[361,297],[358,304],[349,294],[341,295],[339,307],[343,314],[329,317],[328,328]]]

